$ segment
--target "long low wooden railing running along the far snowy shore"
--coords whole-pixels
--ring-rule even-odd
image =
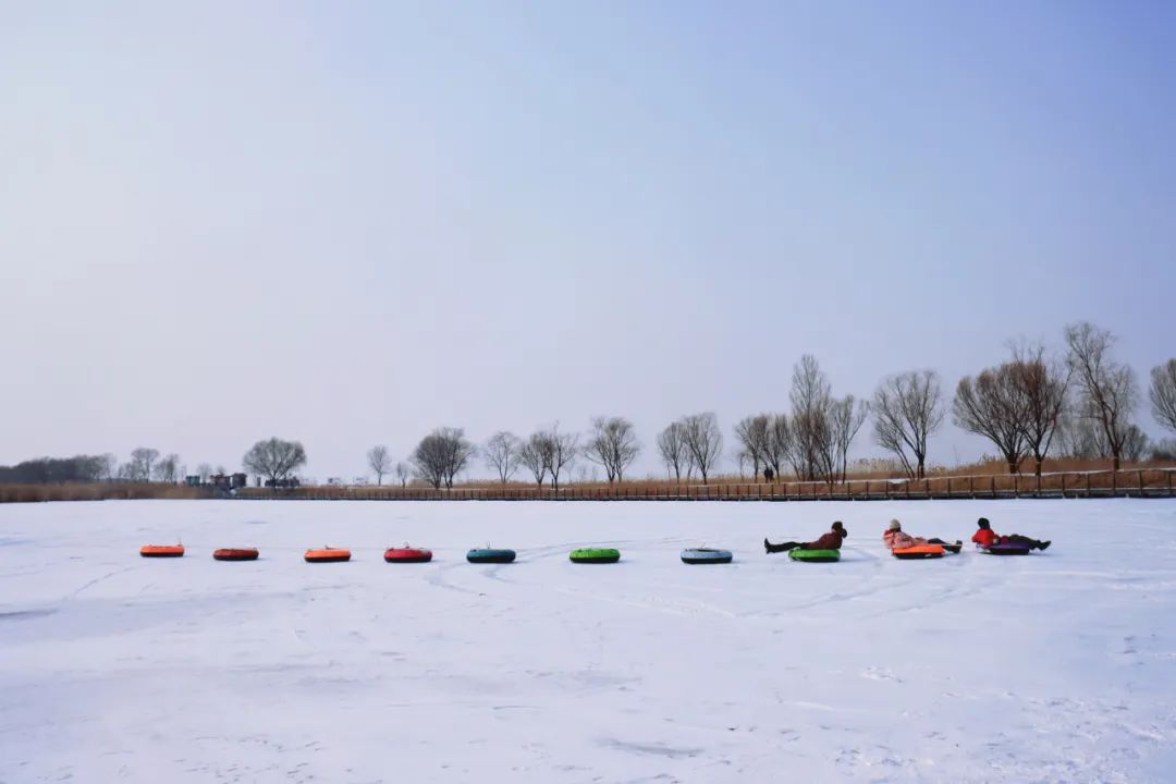
[[[944,476],[926,480],[629,484],[526,488],[248,488],[238,498],[289,501],[890,501],[950,498],[1171,498],[1176,469]]]

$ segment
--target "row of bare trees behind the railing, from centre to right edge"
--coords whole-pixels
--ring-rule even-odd
[[[1070,324],[1056,349],[1013,346],[1007,361],[964,376],[946,394],[935,370],[909,370],[883,378],[869,400],[837,396],[817,360],[804,355],[793,370],[788,410],[761,413],[734,428],[731,457],[742,473],[766,480],[790,474],[803,481],[841,482],[850,447],[871,423],[874,442],[923,478],[928,443],[950,415],[956,427],[987,438],[1018,473],[1031,458],[1034,470],[1053,453],[1062,457],[1104,458],[1118,469],[1144,456],[1176,458],[1176,442],[1150,443],[1136,422],[1141,389],[1135,371],[1114,356],[1115,336],[1088,322]],[[1148,397],[1155,420],[1176,431],[1176,359],[1151,369]],[[576,460],[603,468],[609,482],[622,481],[642,451],[633,423],[622,416],[596,417],[583,434],[541,428],[527,437],[494,434],[481,445],[462,428],[437,428],[417,444],[407,463],[393,465],[386,447],[368,451],[377,482],[395,471],[434,488],[454,478],[480,456],[503,484],[516,475],[559,488]],[[675,480],[703,484],[723,460],[723,434],[713,413],[683,416],[657,434],[656,451]]]

